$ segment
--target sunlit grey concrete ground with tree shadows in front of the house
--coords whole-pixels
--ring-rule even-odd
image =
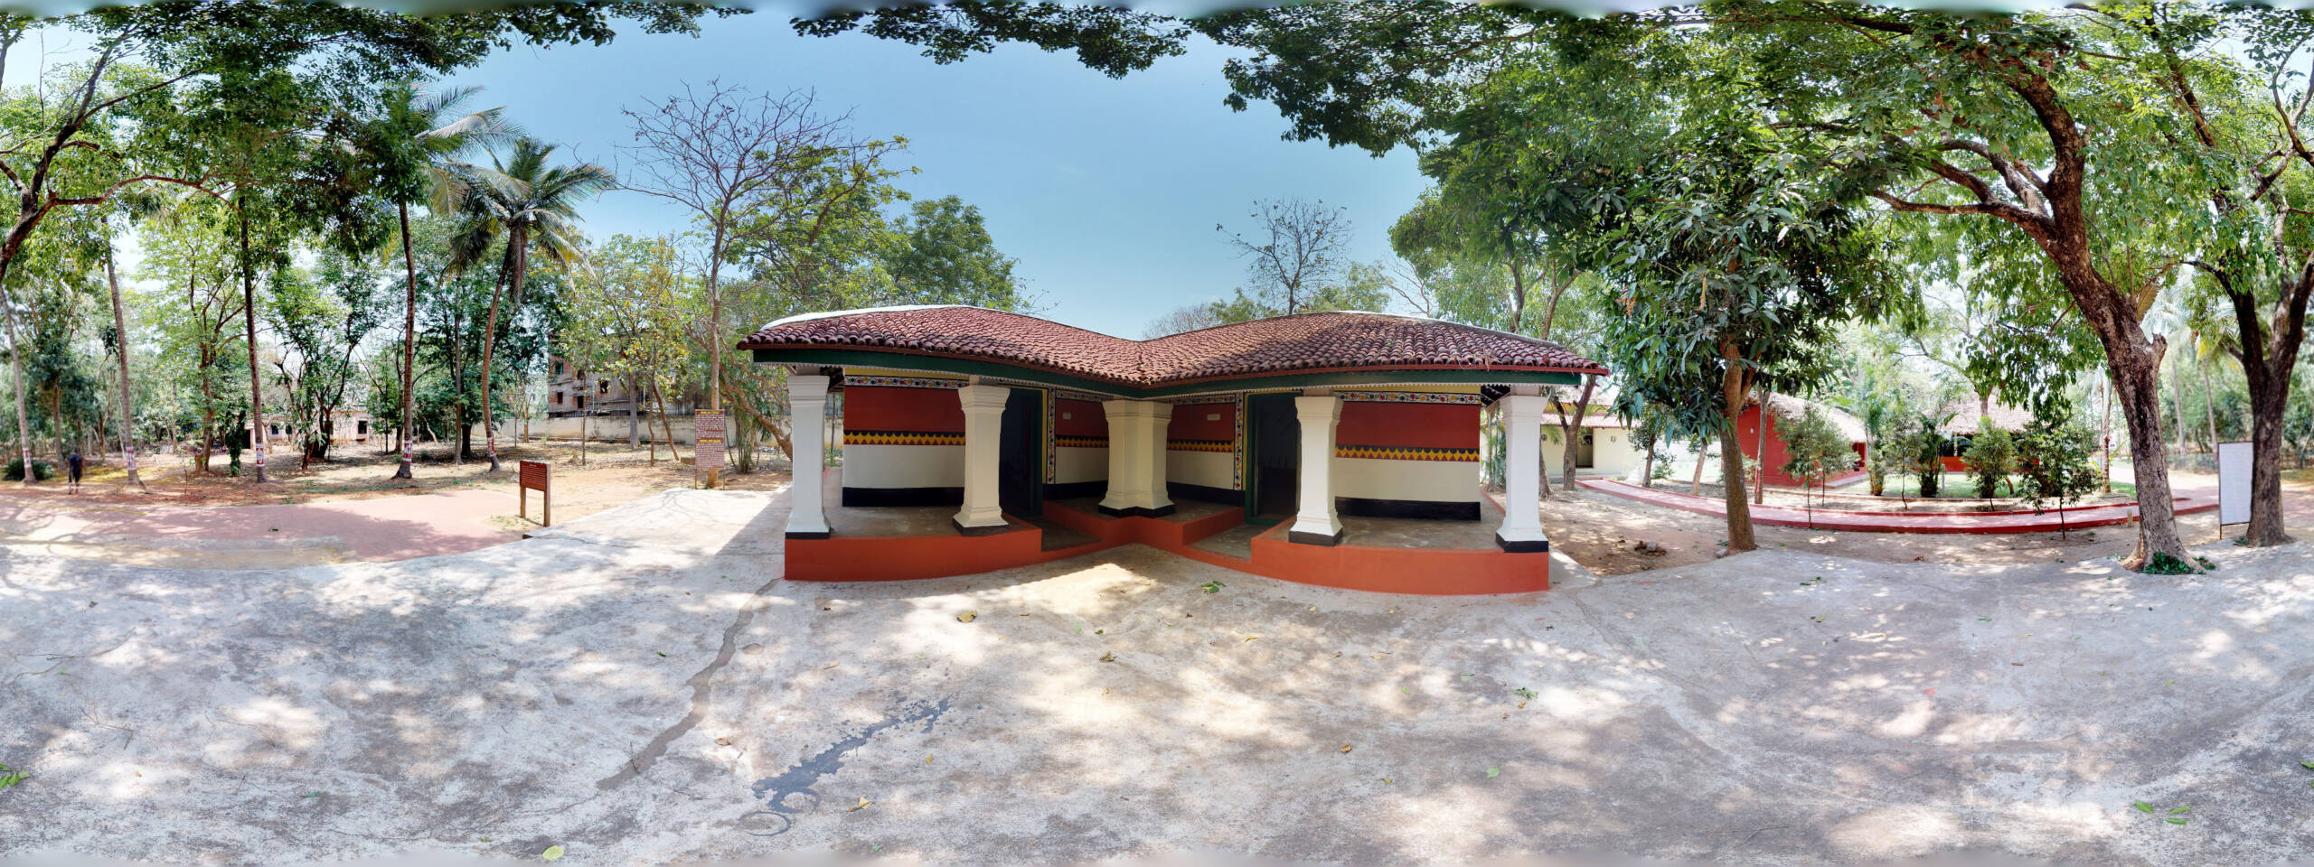
[[[782,523],[673,490],[391,564],[9,553],[0,855],[2314,853],[2305,546],[2189,578],[1761,550],[1442,599],[1141,546],[782,583]]]

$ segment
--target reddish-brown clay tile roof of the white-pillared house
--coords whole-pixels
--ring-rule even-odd
[[[1381,312],[1305,312],[1125,340],[1004,310],[872,307],[780,319],[738,347],[986,358],[1132,386],[1370,368],[1606,372],[1548,340]]]

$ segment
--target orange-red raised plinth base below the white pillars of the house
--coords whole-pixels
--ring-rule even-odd
[[[787,580],[914,580],[1030,566],[1125,543],[1143,543],[1203,564],[1319,587],[1460,596],[1550,590],[1548,553],[1488,548],[1296,546],[1280,523],[1254,536],[1254,557],[1203,548],[1199,539],[1245,523],[1238,511],[1194,520],[1111,518],[1046,504],[1044,518],[1095,541],[1041,550],[1044,529],[1016,523],[993,536],[828,536],[787,541]]]

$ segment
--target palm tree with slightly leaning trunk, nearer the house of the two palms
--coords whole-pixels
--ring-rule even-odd
[[[479,264],[491,245],[504,236],[507,247],[498,264],[498,284],[491,287],[491,317],[481,331],[481,444],[491,455],[491,472],[498,472],[498,430],[491,425],[491,351],[498,342],[500,289],[523,310],[523,277],[530,273],[530,252],[558,266],[581,257],[578,250],[578,203],[618,185],[611,169],[581,162],[572,166],[548,166],[555,146],[537,139],[516,139],[509,160],[491,155],[491,183],[470,187],[467,220],[451,238],[451,268]]]

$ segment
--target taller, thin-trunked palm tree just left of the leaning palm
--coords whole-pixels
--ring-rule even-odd
[[[454,213],[472,197],[477,185],[488,185],[491,169],[463,162],[474,148],[491,148],[521,136],[521,127],[507,123],[500,109],[460,111],[481,88],[423,90],[403,81],[386,92],[384,136],[379,157],[400,160],[403,178],[414,180],[393,190],[393,210],[400,220],[403,273],[407,275],[407,298],[403,307],[403,460],[393,479],[412,479],[410,430],[412,430],[412,363],[419,335],[419,264],[410,252],[410,201],[426,201],[437,215]]]

